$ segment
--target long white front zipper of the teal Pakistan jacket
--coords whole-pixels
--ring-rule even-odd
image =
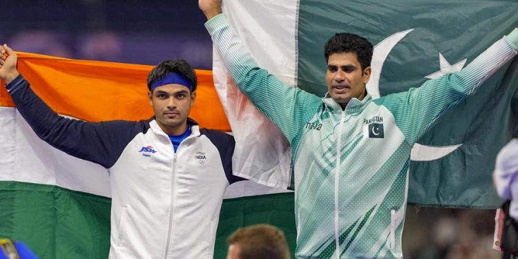
[[[345,111],[342,111],[340,126],[338,126],[338,141],[336,142],[336,167],[334,170],[334,242],[336,247],[336,259],[340,259],[340,209],[338,207],[338,187],[340,180],[340,148],[342,146],[343,123],[345,122]]]

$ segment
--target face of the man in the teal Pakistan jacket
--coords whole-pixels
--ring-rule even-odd
[[[345,105],[353,98],[362,100],[367,91],[365,84],[370,78],[370,67],[361,68],[354,52],[339,52],[329,56],[325,82],[329,95],[340,104]]]

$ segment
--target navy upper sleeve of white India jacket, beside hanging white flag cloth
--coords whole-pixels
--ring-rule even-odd
[[[240,178],[232,174],[232,155],[234,153],[234,146],[236,146],[234,137],[227,133],[209,130],[207,128],[200,129],[200,133],[209,137],[209,140],[211,140],[212,144],[218,148],[221,157],[221,163],[223,164],[223,169],[229,184],[245,180],[244,178]]]

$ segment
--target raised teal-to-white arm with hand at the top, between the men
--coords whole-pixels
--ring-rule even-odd
[[[199,6],[209,19],[205,26],[213,44],[238,88],[291,142],[305,123],[305,115],[320,103],[320,97],[288,86],[260,68],[221,14],[220,0],[200,0]]]

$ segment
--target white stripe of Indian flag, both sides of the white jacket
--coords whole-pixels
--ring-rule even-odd
[[[0,107],[0,181],[60,186],[111,198],[108,170],[68,155],[40,140],[16,108]],[[224,198],[285,192],[242,181],[227,188]]]

